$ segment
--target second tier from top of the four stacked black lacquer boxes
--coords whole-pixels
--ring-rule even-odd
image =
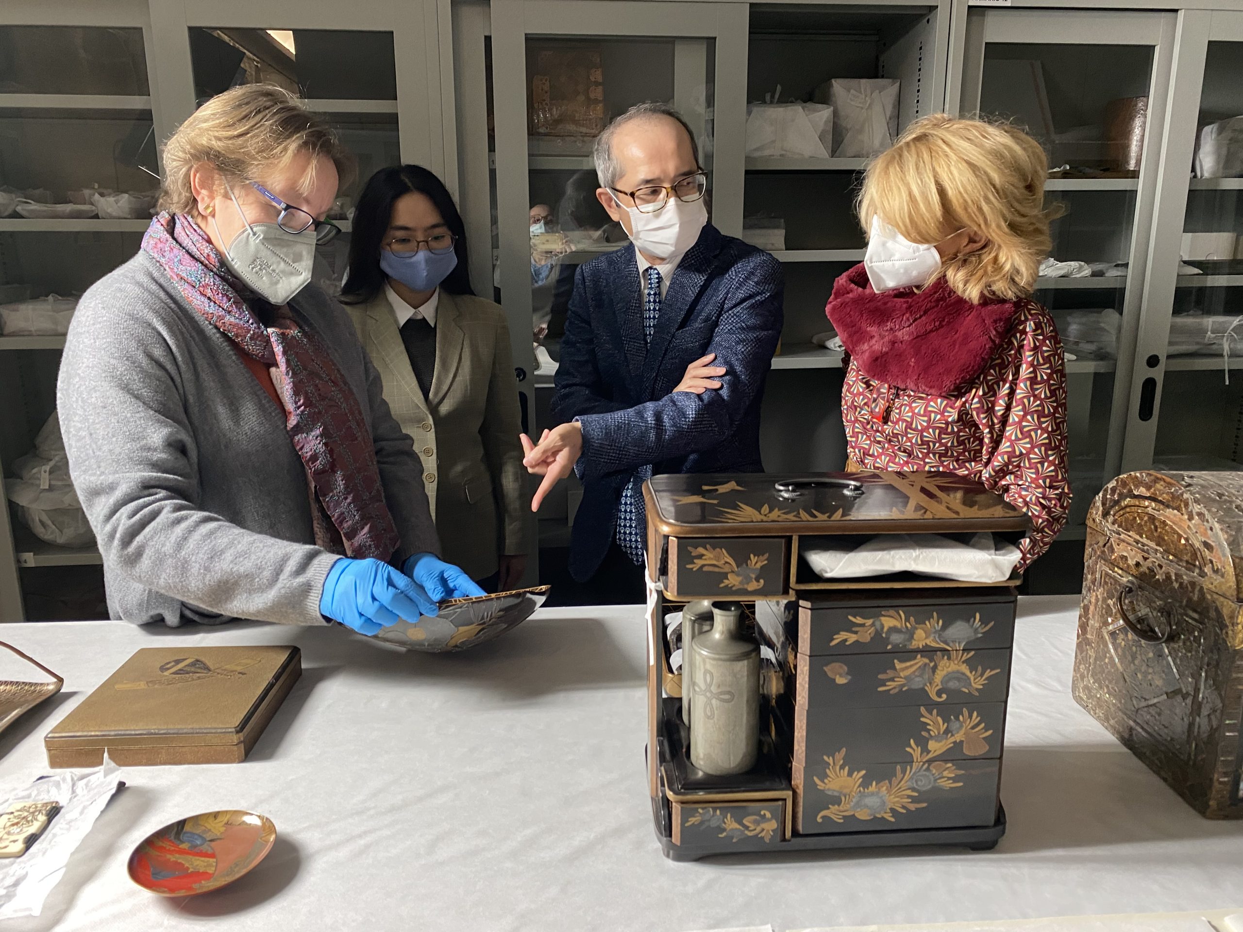
[[[1004,702],[1011,651],[924,650],[809,657],[796,664],[794,701],[813,712],[871,706]]]

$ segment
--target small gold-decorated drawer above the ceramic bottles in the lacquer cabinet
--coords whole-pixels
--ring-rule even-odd
[[[767,599],[789,589],[789,538],[669,538],[665,589],[679,599]]]

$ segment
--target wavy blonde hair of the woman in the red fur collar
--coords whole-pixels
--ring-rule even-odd
[[[937,244],[967,229],[982,249],[941,265],[940,276],[972,303],[1032,293],[1049,254],[1044,209],[1048,160],[1032,137],[1006,123],[924,117],[868,167],[859,196],[865,231],[879,216],[911,242]]]

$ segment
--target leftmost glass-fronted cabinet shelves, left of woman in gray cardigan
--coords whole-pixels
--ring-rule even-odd
[[[138,250],[158,184],[143,29],[0,26],[0,619],[106,615],[56,374],[77,298]]]

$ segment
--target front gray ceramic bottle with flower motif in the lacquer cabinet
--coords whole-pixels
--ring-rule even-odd
[[[742,605],[712,605],[712,630],[691,652],[691,763],[704,773],[746,773],[759,752],[759,645],[742,635]]]

